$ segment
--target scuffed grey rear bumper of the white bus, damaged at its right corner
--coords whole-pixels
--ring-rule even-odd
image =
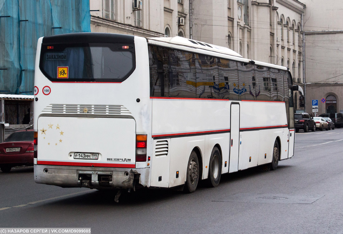
[[[35,164],[34,180],[60,187],[139,188],[148,186],[149,169]]]

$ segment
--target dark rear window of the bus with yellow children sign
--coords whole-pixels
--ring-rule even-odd
[[[122,82],[135,69],[133,44],[42,44],[39,68],[51,81]]]

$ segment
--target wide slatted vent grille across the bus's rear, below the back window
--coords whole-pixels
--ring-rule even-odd
[[[110,115],[131,115],[131,112],[124,106],[109,106],[109,105],[63,105],[51,104],[44,108],[42,113],[54,114],[85,114],[84,109],[87,108],[87,114],[110,114]]]

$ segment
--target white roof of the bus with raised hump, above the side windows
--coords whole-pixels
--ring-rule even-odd
[[[220,53],[228,56],[221,56],[221,57],[227,57],[228,59],[233,59],[236,61],[244,62],[244,63],[250,63],[250,59],[243,58],[240,54],[236,53],[233,50],[230,50],[226,47],[223,46],[218,46],[218,45],[213,45],[209,44],[206,42],[201,42],[201,41],[196,41],[192,39],[187,39],[184,37],[153,37],[153,38],[147,38],[148,42],[151,44],[156,44],[156,45],[161,45],[161,46],[166,46],[166,47],[171,47],[174,49],[180,49],[180,50],[185,50],[182,48],[183,46],[187,46],[189,51],[193,51],[195,49],[200,49],[198,50],[199,53],[205,53],[210,56],[215,56],[214,53]],[[192,50],[192,49],[193,50]],[[201,50],[205,50],[208,52],[201,52]],[[209,52],[210,51],[210,52]],[[212,53],[211,53],[212,52]],[[217,56],[220,56],[217,54]],[[280,69],[280,70],[288,70],[286,67],[275,65],[275,64],[269,64],[269,63],[264,63],[260,61],[253,60],[253,63],[257,66],[264,66],[264,67],[271,67],[275,69]]]

